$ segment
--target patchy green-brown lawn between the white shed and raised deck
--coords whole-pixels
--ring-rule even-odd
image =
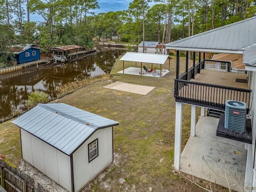
[[[146,96],[103,88],[111,83],[105,80],[90,84],[55,101],[120,122],[119,126],[114,127],[114,153],[119,158],[104,173],[105,176],[94,179],[86,191],[204,191],[176,174],[172,166],[175,62],[176,58],[173,57],[170,72],[163,78],[115,75],[122,70],[122,62],[117,62],[112,71],[112,81],[155,86],[156,88]],[[135,64],[125,63],[125,68],[129,66]],[[168,66],[167,61],[163,68]],[[15,131],[10,134],[9,130]],[[4,142],[0,142],[0,154],[8,156],[12,163],[17,164],[20,159],[18,128],[11,122],[0,124],[0,134],[6,134]],[[190,135],[188,105],[185,105],[183,110],[182,134],[184,147]],[[13,146],[15,151],[12,150]],[[14,156],[16,158],[12,158]]]

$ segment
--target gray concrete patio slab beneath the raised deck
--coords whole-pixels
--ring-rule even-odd
[[[196,136],[182,151],[180,171],[243,192],[247,151],[242,142],[216,136],[218,121],[200,117]]]

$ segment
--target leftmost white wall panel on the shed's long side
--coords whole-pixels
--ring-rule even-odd
[[[31,134],[20,129],[22,158],[33,165]]]

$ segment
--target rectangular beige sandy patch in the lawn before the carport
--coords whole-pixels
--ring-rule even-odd
[[[112,84],[104,86],[104,88],[125,91],[125,92],[140,94],[140,95],[147,95],[155,87],[123,83],[123,82],[116,81]]]

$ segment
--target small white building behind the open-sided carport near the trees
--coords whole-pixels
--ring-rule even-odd
[[[138,53],[143,53],[143,41],[138,45]],[[158,41],[145,41],[144,53],[166,54],[166,46]]]

